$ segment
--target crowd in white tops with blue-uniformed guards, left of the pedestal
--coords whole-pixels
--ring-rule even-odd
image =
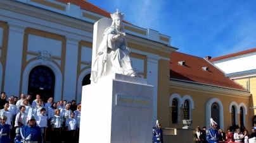
[[[80,104],[53,98],[44,103],[40,94],[34,101],[31,98],[21,94],[20,100],[16,96],[7,100],[1,93],[0,142],[79,142]]]

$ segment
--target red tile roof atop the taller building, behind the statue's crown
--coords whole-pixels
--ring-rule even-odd
[[[86,11],[90,11],[92,13],[96,13],[96,14],[99,14],[101,16],[105,16],[107,18],[111,18],[110,17],[110,13],[108,11],[105,11],[104,9],[101,9],[99,8],[98,6],[95,6],[94,4],[91,4],[87,1],[84,1],[84,0],[55,0],[55,1],[59,1],[61,3],[72,3],[72,4],[75,4],[77,6],[80,6],[81,9],[84,9]],[[125,21],[125,23],[128,23],[128,24],[131,24],[129,23],[128,21]]]

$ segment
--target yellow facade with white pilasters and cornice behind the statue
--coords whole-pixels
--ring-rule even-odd
[[[0,1],[0,90],[80,103],[82,86],[90,84],[93,25],[105,17],[110,13],[87,1]],[[154,86],[153,125],[158,94],[169,93],[169,55],[177,49],[158,31],[127,21],[124,27],[132,66]]]

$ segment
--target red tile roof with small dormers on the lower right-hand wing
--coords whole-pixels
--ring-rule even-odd
[[[179,61],[185,61],[186,66],[181,66]],[[208,71],[202,67],[208,67]],[[170,54],[170,78],[246,91],[240,84],[225,77],[223,72],[207,60],[180,52]]]

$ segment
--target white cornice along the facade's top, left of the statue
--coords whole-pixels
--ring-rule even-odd
[[[7,4],[7,3],[4,3],[4,1],[1,1],[0,8],[6,9],[9,11],[14,11],[16,13],[25,14],[27,16],[33,16],[35,18],[40,18],[42,20],[52,21],[54,23],[59,23],[61,25],[71,26],[80,30],[93,32],[93,25],[92,24],[91,26],[89,26],[89,24],[85,25],[86,21],[75,20],[74,18],[69,18],[68,16],[63,16],[62,14],[53,13],[51,11],[47,11],[41,8],[36,8],[36,9],[34,7],[31,8],[31,6],[27,6],[26,4],[20,4],[13,1],[7,1],[7,2],[13,3],[13,5]],[[35,10],[33,11],[33,9]],[[38,9],[40,9],[39,11],[42,11],[42,13],[37,12]],[[77,21],[79,23],[76,23],[74,21]]]

